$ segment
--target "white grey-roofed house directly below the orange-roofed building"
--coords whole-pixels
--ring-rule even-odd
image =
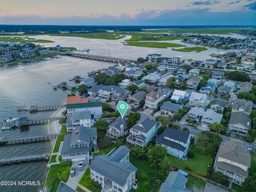
[[[77,126],[91,128],[94,124],[94,115],[90,111],[75,111],[71,116],[67,116],[66,127],[67,131],[72,131]]]

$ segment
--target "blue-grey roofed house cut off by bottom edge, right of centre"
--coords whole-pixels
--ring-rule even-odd
[[[184,171],[171,171],[161,185],[159,192],[190,192],[191,189],[186,187],[187,181],[187,174],[185,176]]]

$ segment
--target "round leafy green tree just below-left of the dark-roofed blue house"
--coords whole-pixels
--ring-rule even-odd
[[[167,154],[166,148],[161,145],[151,147],[147,152],[149,166],[157,169],[165,159]]]

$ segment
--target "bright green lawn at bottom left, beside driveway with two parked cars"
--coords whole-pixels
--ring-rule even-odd
[[[51,192],[55,192],[57,191],[61,180],[64,182],[67,182],[69,173],[70,173],[71,164],[72,164],[71,162],[65,162],[65,163],[61,162],[58,165],[52,165],[50,167],[49,174],[47,175],[47,178],[45,181],[46,188],[50,189],[53,182],[53,187]]]

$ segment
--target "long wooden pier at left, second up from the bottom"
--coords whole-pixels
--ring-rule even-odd
[[[46,133],[38,135],[29,135],[26,137],[0,137],[0,145],[18,145],[32,142],[49,141],[56,138],[60,133]]]

